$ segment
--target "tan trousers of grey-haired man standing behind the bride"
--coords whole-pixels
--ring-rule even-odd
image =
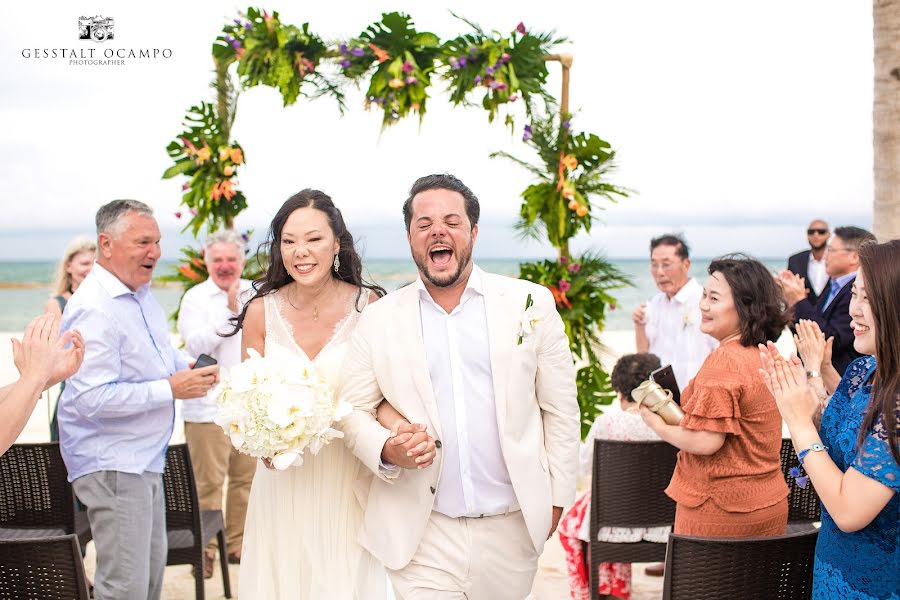
[[[191,452],[200,510],[222,510],[225,478],[228,478],[225,544],[229,554],[240,554],[256,459],[235,450],[231,440],[215,423],[185,422],[184,437]],[[215,549],[217,545],[213,538],[207,548]]]

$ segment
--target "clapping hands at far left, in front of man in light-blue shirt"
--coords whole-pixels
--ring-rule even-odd
[[[59,315],[51,313],[35,317],[25,328],[22,341],[12,340],[13,361],[19,375],[42,389],[74,375],[84,360],[81,333],[71,330],[60,336],[59,322]]]

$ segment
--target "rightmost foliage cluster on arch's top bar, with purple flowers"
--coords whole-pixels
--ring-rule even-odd
[[[556,44],[564,43],[565,38],[554,38],[552,32],[526,32],[521,23],[507,36],[497,31],[487,34],[471,21],[457,18],[472,31],[444,42],[440,58],[447,67],[441,77],[450,87],[454,105],[480,104],[488,111],[488,121],[493,122],[502,106],[520,98],[529,115],[535,97],[543,98],[545,104],[552,102],[544,90],[544,56]],[[477,92],[483,92],[480,102],[474,98]],[[508,112],[505,121],[510,127],[515,126]]]

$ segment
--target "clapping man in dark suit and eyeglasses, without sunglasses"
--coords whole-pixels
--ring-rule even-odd
[[[875,241],[875,236],[865,229],[835,227],[825,249],[825,271],[830,279],[815,305],[807,300],[806,288],[799,276],[787,271],[780,276],[785,300],[794,308],[795,322],[800,319],[815,321],[826,339],[834,338],[831,364],[840,375],[860,356],[853,349],[850,288],[859,269],[859,247],[868,241]]]

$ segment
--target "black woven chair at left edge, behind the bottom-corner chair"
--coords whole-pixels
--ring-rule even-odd
[[[0,539],[76,534],[91,539],[87,514],[76,511],[59,443],[14,444],[0,456]]]

